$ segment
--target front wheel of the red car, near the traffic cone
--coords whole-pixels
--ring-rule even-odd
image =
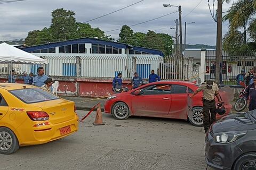
[[[130,115],[129,107],[123,102],[118,102],[112,108],[112,115],[117,120],[125,120]]]

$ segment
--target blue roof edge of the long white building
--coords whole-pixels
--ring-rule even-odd
[[[114,42],[114,41],[107,41],[107,40],[102,40],[102,39],[97,39],[97,38],[78,38],[78,39],[58,41],[58,42],[54,42],[54,43],[41,44],[41,45],[35,45],[35,46],[28,46],[28,47],[23,46],[20,49],[24,50],[25,52],[31,52],[31,51],[34,51],[34,50],[60,47],[60,46],[79,44],[79,43],[81,43],[81,44],[82,43],[102,44],[102,45],[113,46],[115,48],[130,48],[131,47],[131,45],[129,45],[129,44],[117,43],[117,42]],[[142,52],[147,52],[147,53],[150,53],[150,54],[156,54],[156,55],[164,56],[163,52],[161,50],[157,50],[157,49],[150,49],[150,48],[145,48],[145,47],[134,46],[133,50],[140,50]]]

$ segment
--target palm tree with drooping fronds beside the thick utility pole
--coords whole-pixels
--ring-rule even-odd
[[[227,3],[230,0],[226,0]],[[223,48],[245,47],[248,39],[256,40],[256,0],[239,0],[230,7],[223,21],[229,22],[229,31],[223,38]],[[249,32],[249,36],[247,35]]]

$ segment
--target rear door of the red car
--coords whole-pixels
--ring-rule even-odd
[[[171,98],[172,103],[168,115],[170,115],[172,118],[187,119],[187,87],[179,84],[172,84]]]

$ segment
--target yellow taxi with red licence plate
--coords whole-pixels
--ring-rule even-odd
[[[0,154],[57,140],[77,130],[73,101],[28,84],[0,83]]]

